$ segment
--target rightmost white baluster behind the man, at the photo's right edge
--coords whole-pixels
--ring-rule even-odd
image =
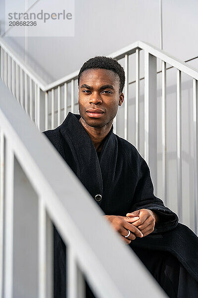
[[[195,233],[198,234],[198,81],[193,79],[193,121],[194,121],[194,210]]]

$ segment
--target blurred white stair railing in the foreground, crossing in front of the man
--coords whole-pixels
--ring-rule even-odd
[[[68,298],[85,297],[84,277],[99,298],[166,297],[102,215],[0,81],[0,297],[52,298],[52,223],[67,247]]]

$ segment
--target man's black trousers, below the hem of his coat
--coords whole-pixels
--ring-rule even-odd
[[[134,247],[133,250],[170,298],[198,298],[198,282],[171,253]],[[88,284],[86,298],[95,298]]]

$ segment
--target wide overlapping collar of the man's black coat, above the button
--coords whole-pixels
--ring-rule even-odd
[[[117,140],[113,133],[113,125],[104,139],[103,147],[98,157],[94,144],[79,122],[79,114],[68,113],[60,126],[60,133],[67,143],[70,144],[74,158],[79,165],[79,179],[95,198],[100,194],[103,198],[112,177],[111,166],[113,156],[117,155]],[[102,200],[101,200],[102,201]],[[98,202],[99,205],[101,201]]]

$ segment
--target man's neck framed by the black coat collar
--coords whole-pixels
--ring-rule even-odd
[[[97,151],[101,151],[102,146],[103,146],[103,140],[109,133],[111,126],[112,126],[112,122],[104,127],[91,127],[84,121],[83,118],[80,118],[79,122],[84,127],[84,129],[87,131],[87,133],[89,134],[89,136],[94,144],[95,149]]]

